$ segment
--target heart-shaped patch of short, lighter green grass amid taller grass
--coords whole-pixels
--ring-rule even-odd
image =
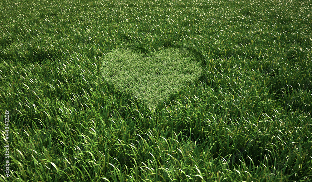
[[[190,47],[168,47],[155,53],[125,47],[102,60],[102,76],[120,91],[130,91],[151,109],[194,82],[205,66]]]

